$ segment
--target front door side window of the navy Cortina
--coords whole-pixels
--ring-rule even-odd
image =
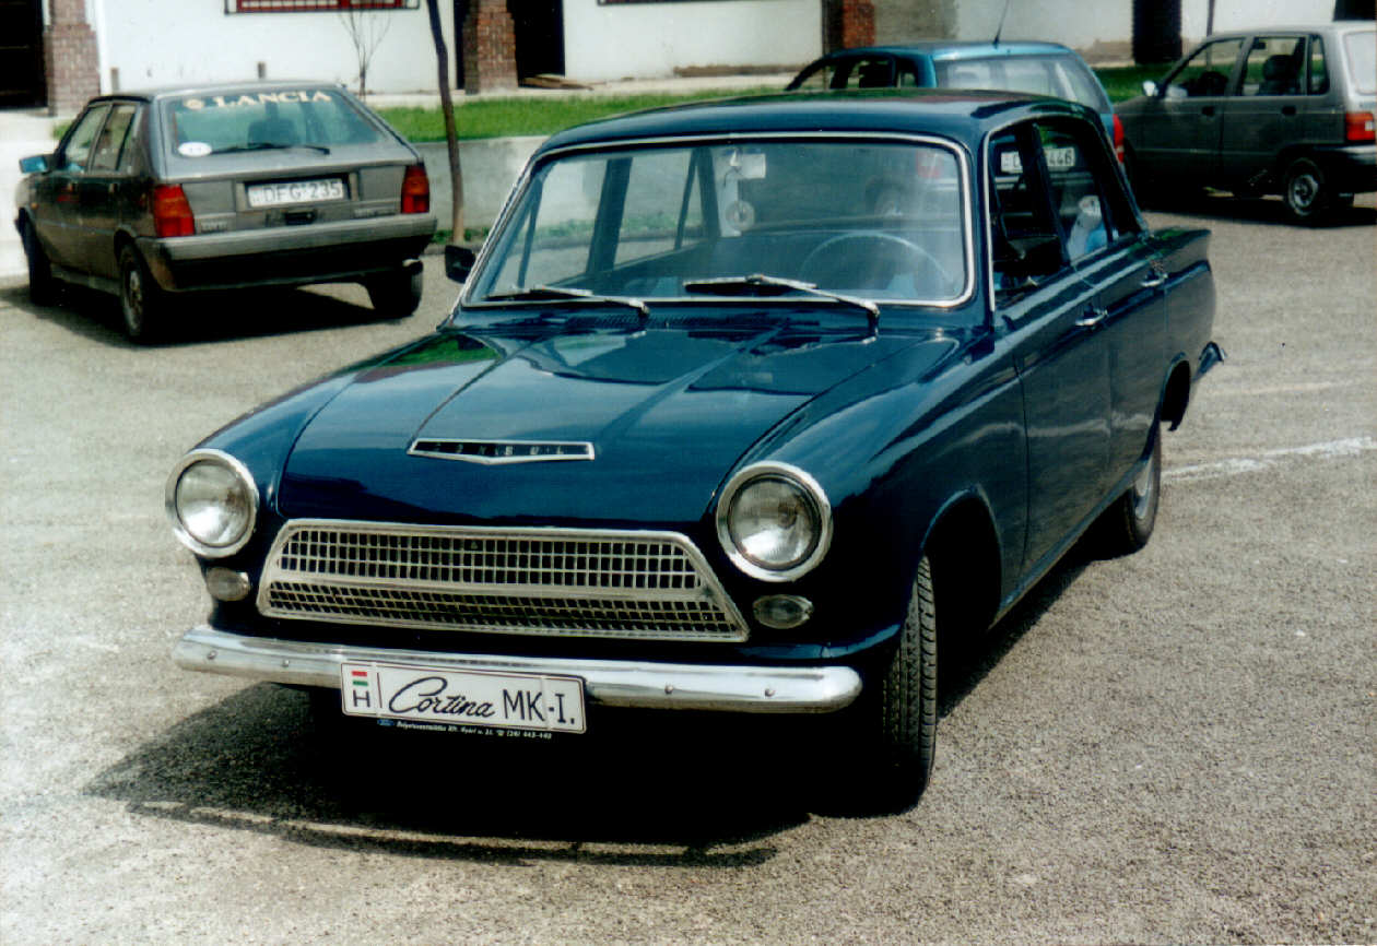
[[[990,138],[991,270],[1000,302],[1036,289],[1066,264],[1036,134],[1033,125],[1020,125]]]

